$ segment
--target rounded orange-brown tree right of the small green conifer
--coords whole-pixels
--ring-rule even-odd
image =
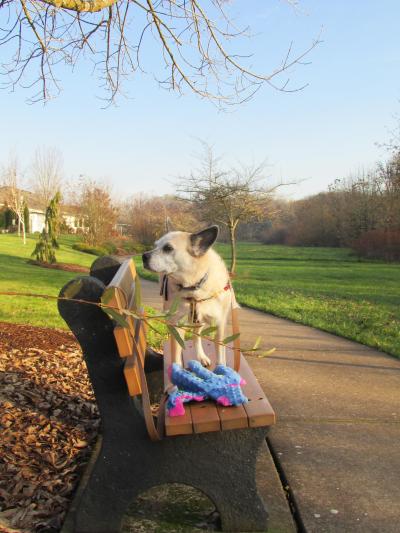
[[[117,209],[108,187],[94,180],[84,179],[78,205],[85,222],[85,241],[91,245],[103,243],[112,235],[117,221]]]

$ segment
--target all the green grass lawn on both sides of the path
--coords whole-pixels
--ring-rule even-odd
[[[0,291],[56,296],[74,273],[27,264],[26,246],[15,235],[0,235]],[[72,250],[75,237],[61,238],[60,262],[90,266],[94,256]],[[218,245],[229,259],[229,247]],[[143,272],[140,257],[136,259]],[[349,250],[239,243],[234,285],[238,300],[373,346],[400,357],[400,265],[359,261]],[[0,320],[65,327],[54,301],[0,296]]]

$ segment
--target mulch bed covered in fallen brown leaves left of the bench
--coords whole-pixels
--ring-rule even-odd
[[[98,427],[74,337],[0,323],[0,533],[59,531]]]

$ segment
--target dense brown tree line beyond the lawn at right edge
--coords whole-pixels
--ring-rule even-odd
[[[281,202],[265,243],[351,247],[369,258],[400,259],[400,152],[368,172],[336,179],[326,192]]]

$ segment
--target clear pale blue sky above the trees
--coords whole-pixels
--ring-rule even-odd
[[[250,26],[253,37],[238,52],[252,52],[259,72],[277,66],[291,42],[301,51],[320,36],[307,64],[290,72],[292,87],[307,86],[293,93],[266,86],[219,111],[137,73],[125,86],[130,98],[104,109],[98,80],[80,63],[59,71],[63,92],[45,105],[28,104],[27,89],[0,91],[0,165],[13,151],[28,180],[35,148],[56,146],[66,180],[105,181],[117,198],[173,193],[176,177],[198,165],[202,139],[227,167],[265,161],[265,183],[296,182],[281,194],[301,198],[387,157],[377,143],[389,139],[400,114],[398,0],[300,0],[296,9],[285,0],[233,0],[228,12]],[[158,53],[151,43],[145,49],[149,71]]]

